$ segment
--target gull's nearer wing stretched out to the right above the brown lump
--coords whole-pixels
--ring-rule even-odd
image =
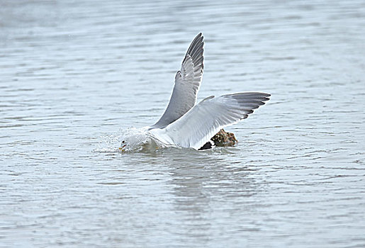
[[[237,93],[205,98],[183,117],[157,130],[164,142],[198,150],[221,128],[245,119],[254,109],[269,100],[269,94],[259,92]]]

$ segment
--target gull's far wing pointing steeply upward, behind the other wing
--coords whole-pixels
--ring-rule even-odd
[[[203,77],[203,36],[199,33],[191,43],[181,69],[176,73],[174,90],[162,117],[151,128],[164,128],[192,108]]]

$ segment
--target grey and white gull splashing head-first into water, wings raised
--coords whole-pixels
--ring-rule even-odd
[[[174,89],[164,114],[154,125],[146,127],[147,134],[164,143],[201,150],[212,147],[210,139],[221,128],[248,117],[264,105],[270,94],[244,92],[223,96],[208,96],[196,104],[203,78],[203,35],[199,33],[186,52],[181,69],[176,72]],[[206,146],[207,143],[208,146]],[[123,148],[126,146],[122,142]]]

